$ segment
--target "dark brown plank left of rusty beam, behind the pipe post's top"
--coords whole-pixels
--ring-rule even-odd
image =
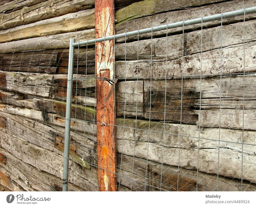
[[[56,56],[58,54],[58,56]],[[42,61],[48,57],[47,61]],[[95,50],[92,48],[79,48],[75,51],[74,60],[74,74],[95,74]],[[78,57],[78,66],[77,66]],[[23,62],[23,59],[28,63]],[[56,63],[55,63],[56,59]],[[7,61],[8,60],[8,61]],[[47,60],[47,59],[46,59]],[[15,64],[11,61],[15,61]],[[49,50],[36,50],[17,53],[5,53],[1,55],[0,67],[2,70],[18,71],[20,72],[40,72],[50,71],[49,66],[56,66],[56,73],[68,72],[68,48],[64,49],[49,49]],[[20,67],[22,66],[22,67]],[[24,66],[27,66],[24,68]],[[30,69],[31,68],[31,69]],[[53,69],[52,68],[52,71]],[[56,70],[55,68],[55,70]],[[85,70],[87,68],[87,71]],[[41,70],[38,70],[41,69]],[[76,71],[78,69],[78,71]],[[24,71],[25,70],[25,71]],[[53,72],[55,73],[55,72]]]

